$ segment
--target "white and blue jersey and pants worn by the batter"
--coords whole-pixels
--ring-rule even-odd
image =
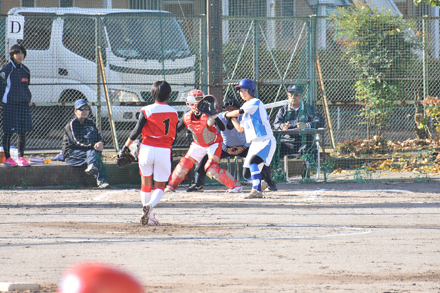
[[[250,167],[250,159],[254,155],[263,159],[264,164],[268,166],[275,153],[276,141],[264,104],[254,97],[245,102],[241,109],[244,114],[241,116],[240,125],[245,129],[246,141],[251,143],[243,167]],[[259,165],[260,171],[262,167],[263,164]]]

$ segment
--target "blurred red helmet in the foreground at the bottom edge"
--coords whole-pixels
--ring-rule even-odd
[[[58,293],[144,293],[144,290],[125,272],[100,263],[79,263],[65,272]]]

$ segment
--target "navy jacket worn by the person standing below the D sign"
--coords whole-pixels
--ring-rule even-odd
[[[30,103],[30,71],[23,64],[9,62],[0,70],[0,96],[3,103]]]

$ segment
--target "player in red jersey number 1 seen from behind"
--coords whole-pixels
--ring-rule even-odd
[[[165,103],[170,93],[171,86],[168,82],[158,81],[151,86],[151,95],[155,103],[140,110],[137,124],[118,154],[118,157],[126,156],[126,153],[130,152],[131,143],[142,133],[138,161],[142,178],[140,198],[143,206],[140,223],[143,226],[162,225],[151,213],[151,209],[164,196],[165,183],[171,173],[171,145],[176,137],[179,116],[175,108]],[[151,194],[153,179],[154,192]]]

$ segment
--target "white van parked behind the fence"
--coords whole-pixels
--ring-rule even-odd
[[[72,107],[51,107],[54,103],[80,98],[97,102],[98,34],[116,124],[137,121],[141,107],[130,105],[152,103],[151,84],[157,80],[171,84],[170,101],[184,101],[193,89],[188,84],[195,82],[195,55],[170,12],[86,8],[12,8],[8,12],[8,18],[17,15],[25,18],[24,37],[17,40],[7,34],[6,58],[12,45],[25,46],[28,55],[23,64],[31,72],[32,103],[46,108],[57,128],[63,128],[68,119],[63,116],[72,113]],[[101,89],[100,100],[105,103]],[[102,117],[108,117],[107,106],[101,109]],[[96,110],[92,106],[94,115]]]

